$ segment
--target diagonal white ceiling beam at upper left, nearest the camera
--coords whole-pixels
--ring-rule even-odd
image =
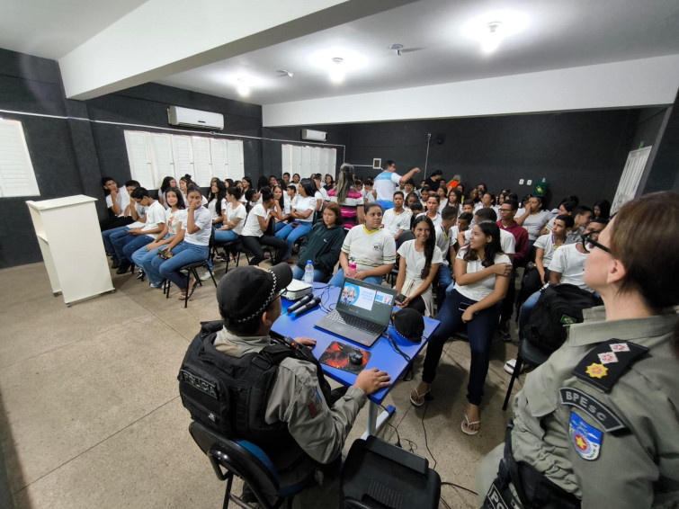
[[[130,86],[414,0],[148,0],[59,59],[69,99]]]

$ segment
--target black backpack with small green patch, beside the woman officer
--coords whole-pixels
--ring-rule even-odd
[[[567,328],[583,321],[583,309],[601,306],[594,293],[572,284],[554,284],[540,290],[540,299],[523,326],[523,337],[547,355],[564,344]]]

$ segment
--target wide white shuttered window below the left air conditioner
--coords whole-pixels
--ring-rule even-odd
[[[243,141],[203,136],[125,131],[132,178],[142,187],[157,189],[165,176],[190,174],[201,187],[213,176],[240,180],[245,174]]]

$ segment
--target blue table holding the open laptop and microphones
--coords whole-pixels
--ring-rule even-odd
[[[335,308],[335,303],[339,295],[339,287],[328,286],[323,283],[314,283],[314,295],[316,297],[321,297],[321,304],[324,308]],[[399,336],[394,327],[389,325],[387,332],[377,340],[371,348],[366,348],[362,344],[353,343],[352,341],[345,339],[342,336],[334,335],[323,329],[317,328],[314,324],[326,314],[326,310],[318,307],[308,311],[301,317],[293,317],[288,315],[285,310],[292,304],[290,300],[282,299],[283,313],[272,326],[272,331],[280,335],[288,335],[290,337],[300,337],[306,336],[311,337],[316,340],[316,346],[314,347],[314,355],[316,358],[320,358],[321,355],[326,351],[327,347],[330,346],[334,341],[341,344],[348,344],[353,347],[359,347],[367,350],[371,353],[371,358],[368,364],[365,366],[366,369],[379,368],[382,371],[387,371],[391,377],[391,384],[387,388],[382,388],[371,397],[371,405],[368,407],[368,426],[367,434],[374,434],[380,425],[383,424],[389,416],[391,416],[396,410],[394,406],[388,406],[386,412],[378,417],[377,409],[384,401],[384,398],[389,394],[389,390],[393,387],[393,384],[403,375],[404,371],[407,369],[407,360],[398,353],[393,344],[389,341],[390,335],[394,342],[398,345],[398,348],[405,353],[411,359],[415,359],[415,356],[422,351],[426,340],[434,331],[434,329],[439,325],[437,320],[432,318],[424,318],[424,339],[421,343],[412,343],[406,339]],[[327,366],[326,364],[321,364],[323,367],[323,372],[326,373],[328,377],[333,380],[340,382],[345,386],[353,385],[356,381],[356,375],[338,368],[333,368]],[[364,435],[364,436],[366,436]]]

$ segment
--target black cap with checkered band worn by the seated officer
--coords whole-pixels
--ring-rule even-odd
[[[266,309],[292,281],[292,269],[279,263],[271,269],[256,265],[228,271],[217,285],[217,303],[223,318],[246,322]]]

